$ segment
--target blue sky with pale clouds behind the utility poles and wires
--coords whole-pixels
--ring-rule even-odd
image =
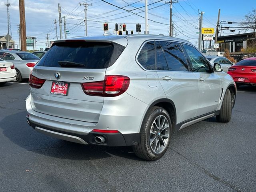
[[[113,33],[115,24],[126,24],[126,30],[136,33],[136,24],[142,25],[142,33],[145,30],[145,0],[25,0],[26,12],[26,36],[37,38],[37,49],[46,47],[46,34],[50,34],[49,40],[56,40],[56,30],[54,20],[58,20],[58,3],[62,7],[62,17],[66,16],[67,30],[70,31],[68,38],[85,35],[84,6],[79,2],[92,4],[87,10],[88,36],[102,35],[103,23],[107,22],[109,31]],[[174,0],[173,0],[174,1]],[[7,0],[0,0],[0,35],[7,34],[7,7],[4,3]],[[148,0],[148,25],[150,34],[168,35],[170,22],[170,4],[167,0]],[[19,20],[19,1],[9,0],[11,6],[10,20],[12,38],[19,47],[19,36],[17,24]],[[129,4],[132,4],[129,6]],[[117,7],[115,7],[117,6]],[[120,8],[123,9],[120,9]],[[135,7],[135,8],[134,8]],[[136,8],[139,8],[136,9]],[[193,44],[198,42],[198,9],[204,11],[203,27],[216,27],[218,9],[221,9],[220,20],[242,21],[245,14],[256,8],[255,0],[178,0],[173,4],[174,34],[177,38],[190,40]],[[125,9],[125,10],[124,10]],[[134,10],[135,9],[135,10]],[[128,12],[127,10],[133,10]],[[136,13],[138,15],[135,15]],[[152,21],[151,21],[152,20]],[[63,21],[63,18],[62,18]],[[234,25],[226,25],[234,26]],[[62,22],[62,33],[64,37],[64,26]],[[242,31],[240,31],[242,33]],[[60,38],[60,28],[57,21],[58,39]],[[224,31],[224,35],[232,32]],[[232,34],[237,34],[238,30]],[[28,50],[32,47],[28,47]]]

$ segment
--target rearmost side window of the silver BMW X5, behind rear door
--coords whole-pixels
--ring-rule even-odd
[[[155,70],[155,60],[154,41],[147,42],[138,55],[138,62],[147,70]]]

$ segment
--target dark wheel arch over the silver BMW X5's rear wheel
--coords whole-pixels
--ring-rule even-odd
[[[167,110],[167,112],[172,120],[172,133],[173,133],[175,130],[174,125],[176,125],[176,119],[177,119],[176,118],[176,107],[174,105],[174,102],[167,98],[158,99],[158,100],[154,101],[152,104],[150,104],[146,113],[144,114],[142,124],[144,123],[145,117],[148,114],[149,110],[154,106],[162,107],[165,110]],[[141,126],[142,126],[142,124],[141,124]],[[141,126],[140,126],[140,132],[141,132]]]

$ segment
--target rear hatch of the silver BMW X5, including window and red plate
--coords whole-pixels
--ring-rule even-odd
[[[31,89],[32,109],[72,120],[98,122],[104,97],[85,94],[82,83],[104,81],[106,68],[122,50],[124,46],[113,42],[55,43],[32,71],[33,76],[45,80],[41,88]]]

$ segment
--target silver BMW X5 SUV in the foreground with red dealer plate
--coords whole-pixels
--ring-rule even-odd
[[[133,146],[157,160],[171,135],[206,118],[229,122],[236,85],[190,42],[157,35],[55,41],[30,74],[28,124],[43,134]]]

